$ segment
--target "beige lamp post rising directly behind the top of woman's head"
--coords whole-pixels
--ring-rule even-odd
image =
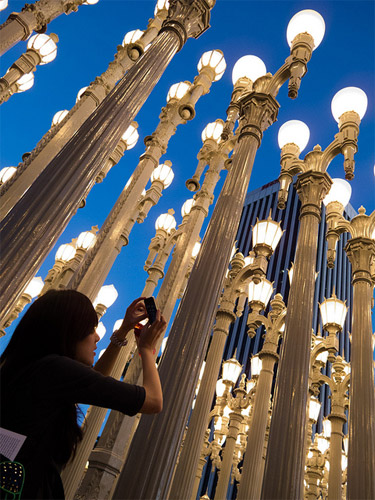
[[[160,115],[160,122],[155,132],[145,139],[146,151],[140,157],[138,166],[130,178],[130,183],[126,184],[100,229],[95,246],[87,254],[80,269],[72,278],[71,287],[78,288],[89,296],[94,295],[99,282],[104,281],[122,246],[127,244],[129,229],[133,227],[131,220],[134,207],[138,203],[142,190],[153,170],[158,168],[159,159],[166,152],[168,142],[175,133],[176,127],[185,124],[187,120],[194,117],[196,102],[202,94],[209,91],[212,82],[222,74],[223,64],[225,67],[225,61],[220,51],[210,51],[206,54],[210,54],[210,58],[206,61],[203,55],[200,59],[198,64],[200,72],[193,84],[181,82],[171,87],[167,97],[167,105],[162,109]],[[206,64],[202,63],[203,60],[206,61]],[[155,190],[153,192],[152,196],[156,202]],[[151,195],[151,193],[149,194]],[[147,204],[151,208],[151,205]],[[137,213],[135,218],[138,215]]]

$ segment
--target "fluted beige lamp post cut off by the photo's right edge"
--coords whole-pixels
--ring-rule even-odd
[[[327,205],[330,267],[335,261],[335,245],[340,234],[350,232],[352,236],[345,247],[353,274],[347,495],[350,500],[370,499],[375,496],[375,391],[371,329],[375,212],[367,216],[361,207],[359,214],[349,222],[337,210],[332,214],[332,204],[335,203],[333,200]]]

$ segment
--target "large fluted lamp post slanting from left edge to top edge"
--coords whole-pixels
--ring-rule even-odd
[[[124,128],[130,125],[175,53],[188,37],[197,37],[208,28],[213,4],[213,0],[171,2],[169,17],[151,47],[2,221],[0,231],[5,249],[4,267],[0,270],[2,311],[6,313],[17,300],[23,283],[33,276],[65,229],[103,161],[116,147]]]

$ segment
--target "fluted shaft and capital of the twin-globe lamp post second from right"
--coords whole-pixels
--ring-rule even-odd
[[[264,471],[264,499],[300,500],[303,496],[318,228],[321,203],[331,184],[328,174],[314,170],[300,174],[296,184],[302,203],[300,228]]]

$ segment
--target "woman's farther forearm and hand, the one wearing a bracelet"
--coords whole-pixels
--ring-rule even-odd
[[[134,326],[147,318],[146,308],[142,302],[144,298],[145,297],[139,297],[127,308],[122,325],[116,332],[116,337],[119,340],[125,340],[126,336],[133,330]],[[111,375],[120,349],[122,349],[122,347],[111,342],[102,356],[95,363],[94,370],[103,375]]]

